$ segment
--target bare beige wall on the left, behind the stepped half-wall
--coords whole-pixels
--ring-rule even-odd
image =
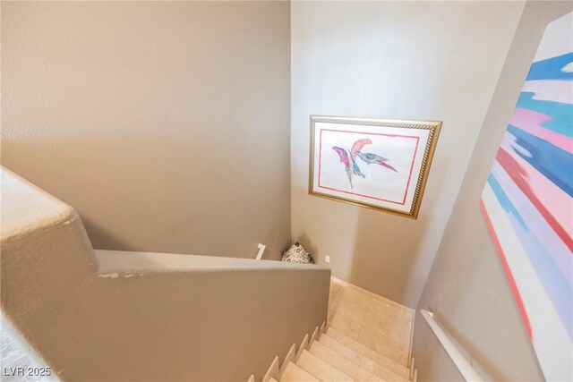
[[[278,258],[287,2],[2,2],[2,164],[99,249]]]

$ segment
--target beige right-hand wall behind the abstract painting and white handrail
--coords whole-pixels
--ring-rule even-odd
[[[543,30],[571,11],[566,2],[526,5],[418,305],[435,312],[486,380],[543,380],[478,200]],[[419,381],[463,380],[419,311],[414,356]]]

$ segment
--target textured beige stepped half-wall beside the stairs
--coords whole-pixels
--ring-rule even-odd
[[[62,380],[261,380],[327,318],[326,267],[94,251],[73,208],[0,175],[2,312]]]

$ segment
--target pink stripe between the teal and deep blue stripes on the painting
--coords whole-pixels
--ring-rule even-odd
[[[547,140],[553,146],[564,149],[569,153],[573,153],[573,139],[562,135],[559,132],[552,132],[542,126],[544,122],[549,120],[551,120],[549,115],[537,113],[533,110],[516,108],[513,115],[511,115],[509,123],[524,132],[535,135],[535,137]]]

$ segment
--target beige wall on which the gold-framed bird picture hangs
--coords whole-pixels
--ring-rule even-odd
[[[291,5],[292,234],[333,276],[415,307],[523,6]],[[309,115],[443,121],[418,219],[309,196]]]

